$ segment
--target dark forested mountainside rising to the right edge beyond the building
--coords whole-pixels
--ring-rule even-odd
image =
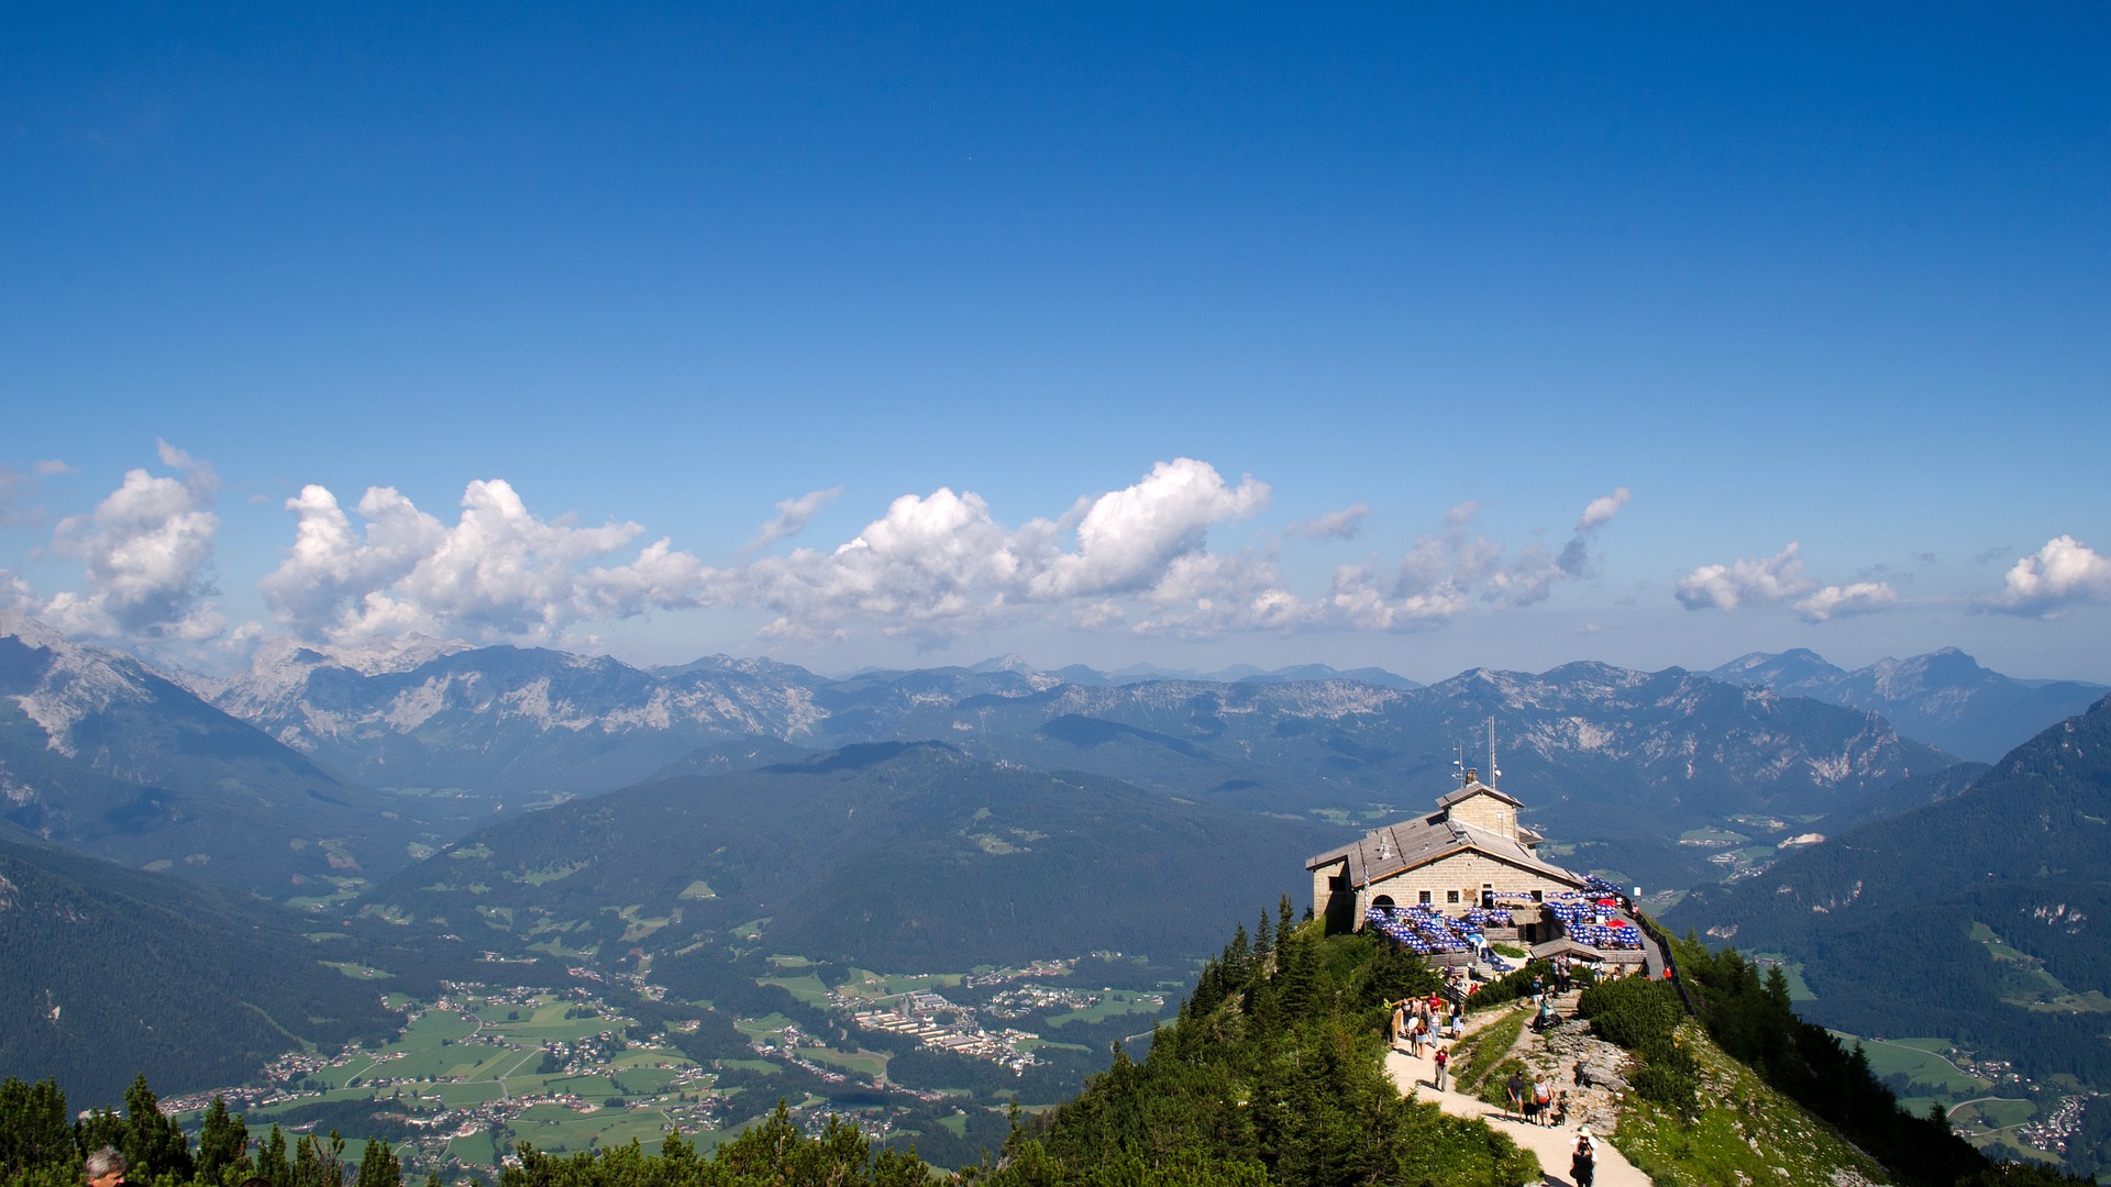
[[[2111,1086],[2111,699],[1953,798],[1695,889],[1668,923],[1801,961],[1801,1010],[1830,1026]]]

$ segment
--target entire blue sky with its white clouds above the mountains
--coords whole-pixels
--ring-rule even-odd
[[[82,638],[2111,680],[2100,8],[0,21]]]

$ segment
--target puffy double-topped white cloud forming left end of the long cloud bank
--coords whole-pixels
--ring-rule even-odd
[[[386,486],[361,496],[363,530],[323,486],[285,507],[293,547],[260,583],[264,602],[296,634],[340,644],[407,632],[547,642],[581,621],[701,604],[707,585],[667,541],[602,564],[644,528],[540,520],[505,479],[471,482],[454,524]]]

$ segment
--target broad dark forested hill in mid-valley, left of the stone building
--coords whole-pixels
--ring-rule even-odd
[[[1098,948],[1184,961],[1237,923],[1254,877],[1294,887],[1343,834],[942,743],[870,743],[509,819],[372,902],[471,948],[671,953],[768,917],[773,953],[876,969]]]

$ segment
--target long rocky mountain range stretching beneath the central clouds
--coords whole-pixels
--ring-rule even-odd
[[[1334,819],[1419,811],[1450,788],[1461,748],[1484,765],[1492,718],[1499,762],[1537,826],[1583,845],[1577,864],[1651,885],[1718,877],[1706,851],[1678,845],[1680,830],[1737,813],[1815,819],[1951,762],[1868,712],[1602,663],[1473,670],[1419,689],[1296,670],[1072,680],[1011,659],[840,680],[724,657],[644,672],[511,646],[355,663],[268,651],[213,689],[215,703],[353,779],[458,788],[494,807],[697,773],[699,752],[716,769],[783,758],[754,739],[942,739],[1034,771]]]

